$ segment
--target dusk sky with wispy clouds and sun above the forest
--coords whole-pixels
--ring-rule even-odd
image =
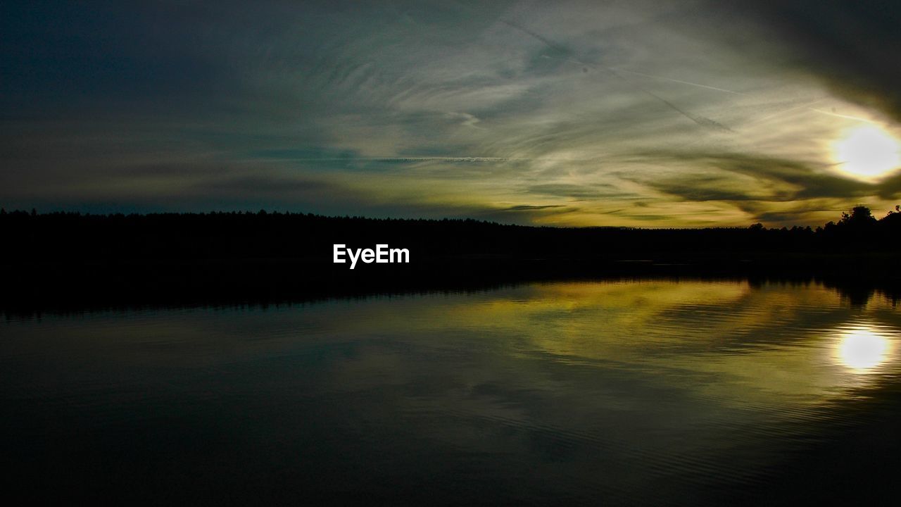
[[[901,203],[901,4],[17,2],[0,206],[822,225]]]

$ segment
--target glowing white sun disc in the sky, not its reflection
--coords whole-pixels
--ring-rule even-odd
[[[877,126],[859,126],[834,143],[833,157],[845,174],[878,180],[901,167],[901,142]]]

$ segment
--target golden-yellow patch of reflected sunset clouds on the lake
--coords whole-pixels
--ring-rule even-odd
[[[514,356],[541,351],[559,363],[598,371],[642,370],[652,373],[651,382],[692,396],[786,417],[817,417],[824,404],[878,387],[875,378],[862,382],[849,375],[850,365],[861,371],[875,361],[881,366],[870,366],[873,371],[883,371],[890,364],[886,336],[892,328],[849,327],[860,308],[849,308],[835,290],[819,285],[583,282],[495,296],[442,312],[496,336]],[[871,300],[864,312],[881,312],[879,321],[890,321],[884,303]],[[833,350],[845,335],[845,357],[836,362]]]

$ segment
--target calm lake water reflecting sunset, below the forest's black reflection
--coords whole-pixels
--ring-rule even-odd
[[[892,503],[899,333],[878,294],[743,281],[13,318],[5,492]]]

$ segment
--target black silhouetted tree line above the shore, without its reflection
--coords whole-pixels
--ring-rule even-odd
[[[901,207],[873,217],[857,206],[815,228],[512,226],[474,219],[324,217],[257,212],[82,214],[0,210],[5,262],[330,259],[332,244],[410,248],[449,258],[654,260],[755,254],[897,252]]]

